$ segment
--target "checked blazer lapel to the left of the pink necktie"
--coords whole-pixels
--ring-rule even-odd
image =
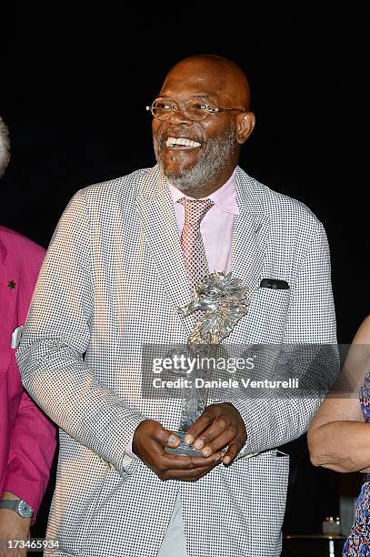
[[[154,167],[145,179],[137,197],[137,205],[145,238],[155,258],[160,279],[175,309],[190,299],[189,281],[182,255],[175,210],[165,178]],[[179,319],[189,334],[194,324],[192,316]]]

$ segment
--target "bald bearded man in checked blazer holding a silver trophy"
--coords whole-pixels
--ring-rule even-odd
[[[165,451],[182,400],[141,390],[143,345],[185,343],[193,322],[176,309],[204,266],[250,291],[230,342],[335,342],[323,226],[237,167],[249,96],[223,57],[178,63],[148,107],[157,165],[78,191],[55,231],[18,361],[60,426],[47,532],[58,555],[280,552],[288,457],[276,447],[319,400],[225,395],[185,437],[202,456],[186,456]]]

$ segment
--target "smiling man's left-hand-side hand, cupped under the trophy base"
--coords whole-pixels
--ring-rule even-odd
[[[144,420],[135,430],[133,451],[161,480],[196,481],[221,461],[221,453],[216,451],[207,458],[165,452],[165,447],[179,444],[177,435],[159,421]]]

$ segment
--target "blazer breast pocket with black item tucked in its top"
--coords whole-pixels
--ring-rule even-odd
[[[289,289],[258,289],[248,310],[254,342],[281,342],[290,301]]]

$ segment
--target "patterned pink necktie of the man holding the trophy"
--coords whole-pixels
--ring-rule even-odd
[[[205,213],[214,205],[212,199],[187,199],[182,197],[177,203],[185,208],[185,222],[181,232],[181,247],[191,290],[208,273],[205,245],[200,231],[200,223]]]

